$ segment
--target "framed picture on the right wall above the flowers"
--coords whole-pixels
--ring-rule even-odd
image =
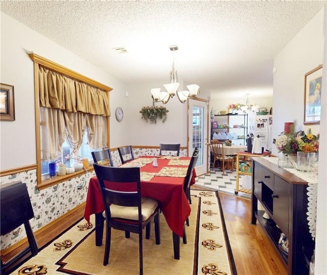
[[[320,124],[322,65],[305,74],[305,119],[303,124]]]

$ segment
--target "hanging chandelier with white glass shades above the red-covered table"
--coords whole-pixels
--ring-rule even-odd
[[[174,98],[177,95],[178,100],[184,103],[188,98],[196,98],[199,90],[199,85],[191,84],[186,87],[188,90],[177,91],[179,87],[177,79],[177,71],[175,70],[175,51],[178,50],[177,45],[169,46],[169,49],[173,52],[173,65],[170,71],[170,83],[164,84],[167,91],[161,91],[160,88],[151,89],[153,102],[162,102],[166,104],[170,98]]]

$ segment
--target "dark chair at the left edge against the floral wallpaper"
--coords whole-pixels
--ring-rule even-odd
[[[1,194],[1,236],[9,234],[24,224],[28,246],[19,251],[8,261],[1,258],[1,274],[6,275],[15,270],[22,261],[37,255],[38,247],[30,225],[34,217],[27,186],[21,181],[0,185]]]

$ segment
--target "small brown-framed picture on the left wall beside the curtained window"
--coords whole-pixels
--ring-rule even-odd
[[[14,86],[0,83],[0,120],[15,120]]]

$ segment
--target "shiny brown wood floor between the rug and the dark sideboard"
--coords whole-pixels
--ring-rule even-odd
[[[287,269],[261,226],[251,225],[251,201],[219,193],[238,275],[287,274]]]

